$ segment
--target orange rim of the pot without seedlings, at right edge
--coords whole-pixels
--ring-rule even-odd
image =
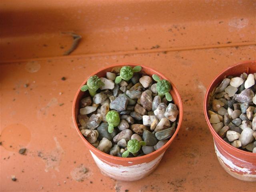
[[[207,124],[208,124],[208,127],[209,127],[209,129],[210,129],[210,132],[212,133],[212,136],[214,136],[214,137],[216,137],[216,139],[220,140],[221,145],[226,145],[226,147],[230,147],[231,149],[233,149],[233,150],[236,151],[237,153],[240,153],[240,154],[243,154],[243,155],[251,155],[251,156],[256,157],[256,153],[250,153],[250,152],[248,152],[248,151],[243,151],[243,150],[241,150],[241,149],[238,149],[238,148],[236,148],[236,147],[233,147],[232,145],[230,145],[230,144],[228,144],[226,141],[224,141],[224,140],[218,135],[218,133],[216,133],[216,131],[215,131],[214,128],[212,127],[212,125],[211,125],[211,123],[210,123],[210,120],[209,120],[209,118],[208,118],[208,108],[207,108],[207,106],[208,106],[208,100],[207,100],[207,98],[208,98],[208,96],[211,94],[210,89],[212,88],[214,82],[216,82],[217,78],[218,78],[219,76],[222,76],[222,74],[223,74],[224,72],[226,72],[226,71],[228,71],[228,70],[230,70],[230,69],[232,69],[232,68],[234,68],[234,67],[237,67],[237,66],[240,66],[240,65],[244,65],[244,64],[246,64],[246,63],[256,63],[256,60],[242,61],[242,62],[236,63],[236,64],[234,64],[234,65],[232,65],[232,66],[230,66],[230,67],[224,69],[224,70],[221,71],[217,76],[214,77],[214,79],[211,81],[210,85],[208,86],[207,91],[206,91],[206,94],[205,94],[205,96],[204,96],[204,116],[205,116],[206,122],[207,122]],[[230,75],[232,75],[232,74],[230,74]]]

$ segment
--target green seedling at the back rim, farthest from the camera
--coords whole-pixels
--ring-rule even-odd
[[[133,76],[134,72],[140,72],[141,71],[141,66],[136,66],[134,68],[130,67],[130,66],[124,66],[121,68],[120,70],[120,76],[117,76],[115,79],[115,83],[118,84],[121,82],[121,80],[130,80]]]

